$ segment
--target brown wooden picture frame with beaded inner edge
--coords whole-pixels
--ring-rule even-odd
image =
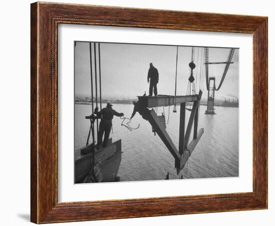
[[[267,17],[79,4],[31,4],[31,221],[35,223],[267,208]],[[253,190],[243,193],[58,202],[58,24],[253,35]]]

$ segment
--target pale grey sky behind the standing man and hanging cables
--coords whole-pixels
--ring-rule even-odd
[[[92,43],[92,62],[94,60],[93,50]],[[226,61],[229,50],[229,48],[209,48],[209,62]],[[203,47],[195,47],[194,51],[196,67],[193,71],[197,80],[196,91],[198,91],[199,77],[204,72],[204,69],[201,70],[201,66],[204,68],[201,58]],[[148,94],[147,72],[150,62],[158,69],[158,94],[174,94],[176,46],[100,43],[100,59],[102,98],[134,98],[137,95],[142,95],[145,90]],[[98,58],[96,60],[98,62]],[[191,47],[179,46],[176,90],[178,95],[186,94],[188,77],[190,75],[188,66],[190,60]],[[229,66],[221,88],[215,92],[215,97],[226,97],[228,94],[238,97],[238,49],[235,49],[232,61],[234,63]],[[216,87],[220,82],[224,66],[225,64],[209,65],[209,76],[216,77]],[[92,64],[92,67],[94,67],[94,64]],[[75,95],[90,96],[88,42],[76,42],[74,72]],[[205,73],[203,73],[203,76],[204,84],[201,84],[200,88],[202,89],[204,86],[202,97],[206,98]]]

